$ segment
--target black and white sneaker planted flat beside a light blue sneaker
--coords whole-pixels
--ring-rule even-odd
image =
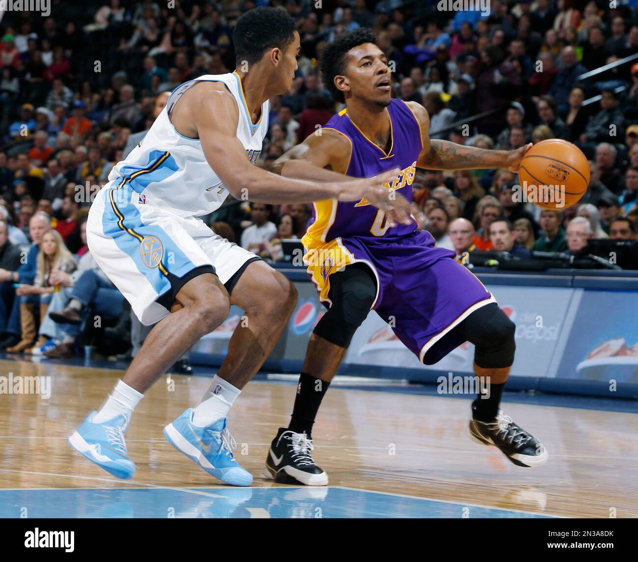
[[[328,475],[316,466],[312,450],[313,441],[306,438],[305,433],[279,427],[268,451],[263,475],[279,484],[327,485]]]

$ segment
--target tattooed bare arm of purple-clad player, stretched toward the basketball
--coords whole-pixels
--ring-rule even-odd
[[[406,102],[419,121],[423,150],[417,161],[426,170],[468,170],[478,168],[507,168],[518,174],[523,154],[531,144],[515,151],[488,151],[472,146],[456,144],[449,140],[431,139],[428,129],[430,118],[425,108],[415,101]]]

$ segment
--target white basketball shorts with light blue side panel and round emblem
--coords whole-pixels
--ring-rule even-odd
[[[170,313],[171,279],[208,267],[226,283],[256,257],[212,232],[201,219],[148,205],[144,196],[119,183],[109,182],[96,195],[86,225],[87,244],[143,324]]]

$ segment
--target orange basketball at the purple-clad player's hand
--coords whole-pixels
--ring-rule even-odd
[[[543,209],[567,209],[587,191],[590,165],[575,144],[550,138],[525,152],[519,180],[525,201]]]

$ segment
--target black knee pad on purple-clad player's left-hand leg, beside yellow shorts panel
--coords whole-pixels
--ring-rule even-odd
[[[330,343],[347,348],[357,328],[375,302],[376,280],[369,267],[348,265],[330,276],[332,306],[313,332]]]

